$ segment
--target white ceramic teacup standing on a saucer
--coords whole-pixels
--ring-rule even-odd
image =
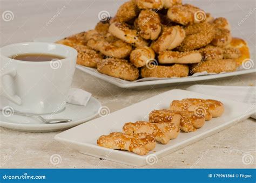
[[[64,57],[51,61],[21,61],[10,57],[25,53]],[[77,51],[53,43],[17,43],[0,48],[2,93],[8,107],[33,114],[64,109],[76,67]]]

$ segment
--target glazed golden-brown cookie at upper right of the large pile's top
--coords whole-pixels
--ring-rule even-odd
[[[197,18],[197,13],[202,13],[202,15],[205,15],[205,12],[196,6],[184,4],[172,6],[168,10],[167,16],[172,20],[172,22],[176,22],[181,25],[189,25],[200,22],[198,21],[199,19]]]

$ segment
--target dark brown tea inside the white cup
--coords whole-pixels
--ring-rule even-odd
[[[11,56],[10,58],[15,60],[33,61],[33,62],[65,59],[62,56],[55,55],[55,54],[47,54],[47,53],[46,54],[45,53],[24,53],[24,54]]]

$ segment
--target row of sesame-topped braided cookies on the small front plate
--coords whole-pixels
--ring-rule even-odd
[[[174,100],[169,109],[153,110],[149,122],[125,123],[123,132],[112,132],[98,138],[97,144],[109,149],[126,150],[145,155],[156,143],[167,144],[184,132],[196,131],[205,121],[219,117],[224,112],[223,103],[216,100],[185,98]]]

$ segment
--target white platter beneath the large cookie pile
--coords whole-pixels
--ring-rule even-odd
[[[45,38],[36,38],[34,41],[36,42],[50,42],[54,43],[60,38],[57,37],[45,37]],[[252,50],[252,49],[251,49]],[[254,53],[251,54],[252,60],[254,60]],[[254,65],[253,63],[250,63]],[[256,65],[256,64],[255,64]],[[125,81],[119,78],[113,78],[111,76],[99,73],[97,69],[95,68],[90,68],[90,67],[85,67],[82,65],[77,65],[76,68],[80,69],[81,71],[93,75],[96,78],[102,79],[104,81],[110,82],[113,85],[116,85],[120,88],[130,88],[130,89],[145,89],[149,88],[151,86],[159,86],[159,87],[164,87],[164,86],[170,86],[170,85],[177,85],[177,83],[188,83],[188,82],[193,82],[193,81],[204,81],[204,80],[212,80],[212,79],[218,79],[218,78],[227,78],[230,76],[236,76],[236,75],[242,75],[242,74],[249,74],[249,73],[256,73],[256,68],[255,67],[250,67],[250,69],[239,69],[238,71],[235,72],[230,72],[230,73],[220,73],[220,74],[208,74],[205,75],[206,73],[200,73],[200,74],[194,74],[193,76],[188,76],[185,78],[151,78],[151,79],[140,79],[137,81]]]

